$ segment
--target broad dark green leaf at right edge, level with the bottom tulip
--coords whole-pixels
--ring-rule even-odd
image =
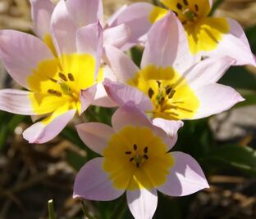
[[[221,145],[203,158],[217,169],[235,168],[256,177],[256,150],[241,145]]]

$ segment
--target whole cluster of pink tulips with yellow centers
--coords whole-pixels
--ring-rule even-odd
[[[112,200],[126,191],[133,216],[152,218],[157,190],[182,196],[208,188],[199,163],[170,150],[181,120],[244,101],[217,83],[231,65],[256,65],[240,25],[208,17],[211,0],[161,0],[166,8],[138,2],[105,23],[101,0],[30,2],[36,36],[0,31],[2,63],[25,87],[1,90],[0,110],[36,116],[23,136],[44,143],[89,105],[119,107],[112,127],[76,126],[101,157],[78,172],[74,198]],[[125,53],[137,44],[140,67]]]

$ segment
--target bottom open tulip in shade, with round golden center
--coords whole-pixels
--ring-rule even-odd
[[[171,128],[171,127],[170,127]],[[131,102],[112,116],[112,127],[103,123],[77,126],[80,138],[94,152],[75,177],[74,198],[117,199],[126,191],[135,218],[152,218],[158,204],[157,190],[171,196],[208,188],[203,171],[189,154],[169,152],[176,143],[153,126]]]

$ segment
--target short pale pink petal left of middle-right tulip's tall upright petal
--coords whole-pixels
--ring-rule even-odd
[[[103,59],[110,66],[114,74],[117,76],[117,80],[121,83],[126,83],[130,78],[134,78],[135,74],[139,71],[139,68],[135,63],[126,56],[121,50],[116,47],[106,46],[104,48]]]

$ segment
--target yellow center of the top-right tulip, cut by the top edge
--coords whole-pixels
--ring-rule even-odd
[[[208,0],[161,0],[161,2],[184,25],[190,46],[190,52],[213,51],[222,41],[224,34],[230,31],[230,26],[225,18],[207,17],[211,10]],[[151,23],[160,20],[167,14],[161,7],[153,7],[149,14]]]

